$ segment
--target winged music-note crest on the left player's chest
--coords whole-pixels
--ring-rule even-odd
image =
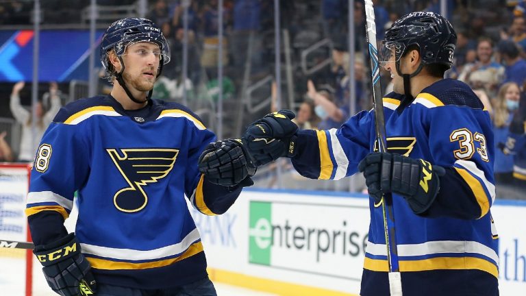
[[[123,212],[138,212],[145,208],[148,196],[143,187],[166,177],[173,169],[177,149],[106,149],[129,187],[113,197],[114,205]],[[121,156],[122,155],[122,156]]]

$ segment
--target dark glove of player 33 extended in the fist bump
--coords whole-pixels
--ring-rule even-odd
[[[295,156],[298,126],[291,121],[294,118],[294,112],[279,110],[266,114],[247,127],[242,140],[256,167],[268,164],[281,156]]]

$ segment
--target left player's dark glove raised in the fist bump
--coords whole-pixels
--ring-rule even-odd
[[[241,140],[210,143],[199,157],[199,171],[208,181],[221,186],[251,186],[255,167]]]

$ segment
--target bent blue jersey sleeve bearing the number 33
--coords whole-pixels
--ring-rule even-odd
[[[424,108],[424,107],[422,107]],[[487,111],[467,106],[432,108],[429,147],[434,163],[447,168],[426,213],[460,219],[484,217],[495,198],[494,145]]]

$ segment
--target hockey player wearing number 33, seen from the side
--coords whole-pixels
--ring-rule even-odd
[[[444,71],[456,34],[434,12],[412,12],[387,30],[380,61],[395,93],[384,101],[387,153],[375,150],[375,114],[362,111],[338,129],[297,131],[288,110],[250,125],[243,142],[257,166],[281,156],[313,179],[362,171],[371,224],[362,296],[389,295],[381,196],[392,193],[404,296],[498,295],[493,135],[471,88]]]

